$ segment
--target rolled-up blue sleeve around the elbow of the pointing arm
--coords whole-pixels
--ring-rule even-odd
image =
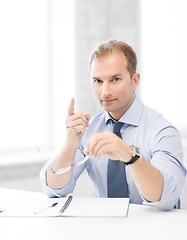
[[[77,149],[74,161],[80,161],[83,157],[84,157],[84,154],[82,152],[82,147],[79,147]],[[53,189],[47,185],[47,176],[46,176],[47,163],[46,163],[42,168],[42,170],[40,171],[40,181],[42,183],[44,192],[47,194],[48,197],[64,197],[67,194],[72,193],[75,188],[76,181],[78,177],[81,175],[81,173],[83,172],[83,170],[85,169],[85,166],[86,166],[86,163],[75,166],[73,169],[72,179],[69,182],[69,184],[61,189]]]

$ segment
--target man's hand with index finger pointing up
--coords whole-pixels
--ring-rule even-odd
[[[88,127],[90,114],[75,113],[74,106],[75,99],[72,98],[68,107],[68,116],[66,119],[67,143],[77,148]]]

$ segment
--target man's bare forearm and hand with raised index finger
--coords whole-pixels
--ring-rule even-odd
[[[47,168],[47,185],[53,189],[65,187],[71,181],[73,173],[72,169],[60,175],[54,174],[53,171],[73,163],[76,150],[80,145],[81,138],[84,136],[86,128],[88,127],[90,114],[76,114],[74,112],[74,105],[75,100],[72,98],[66,119],[67,137],[62,152],[53,161],[51,161],[50,167]]]

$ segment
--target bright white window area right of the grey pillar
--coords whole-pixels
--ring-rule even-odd
[[[141,97],[187,137],[187,1],[141,1]]]

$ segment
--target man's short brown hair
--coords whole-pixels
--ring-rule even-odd
[[[137,56],[134,50],[125,42],[110,40],[99,45],[90,56],[90,65],[92,61],[103,56],[107,56],[115,51],[122,52],[127,60],[127,70],[132,78],[133,74],[136,73]]]

